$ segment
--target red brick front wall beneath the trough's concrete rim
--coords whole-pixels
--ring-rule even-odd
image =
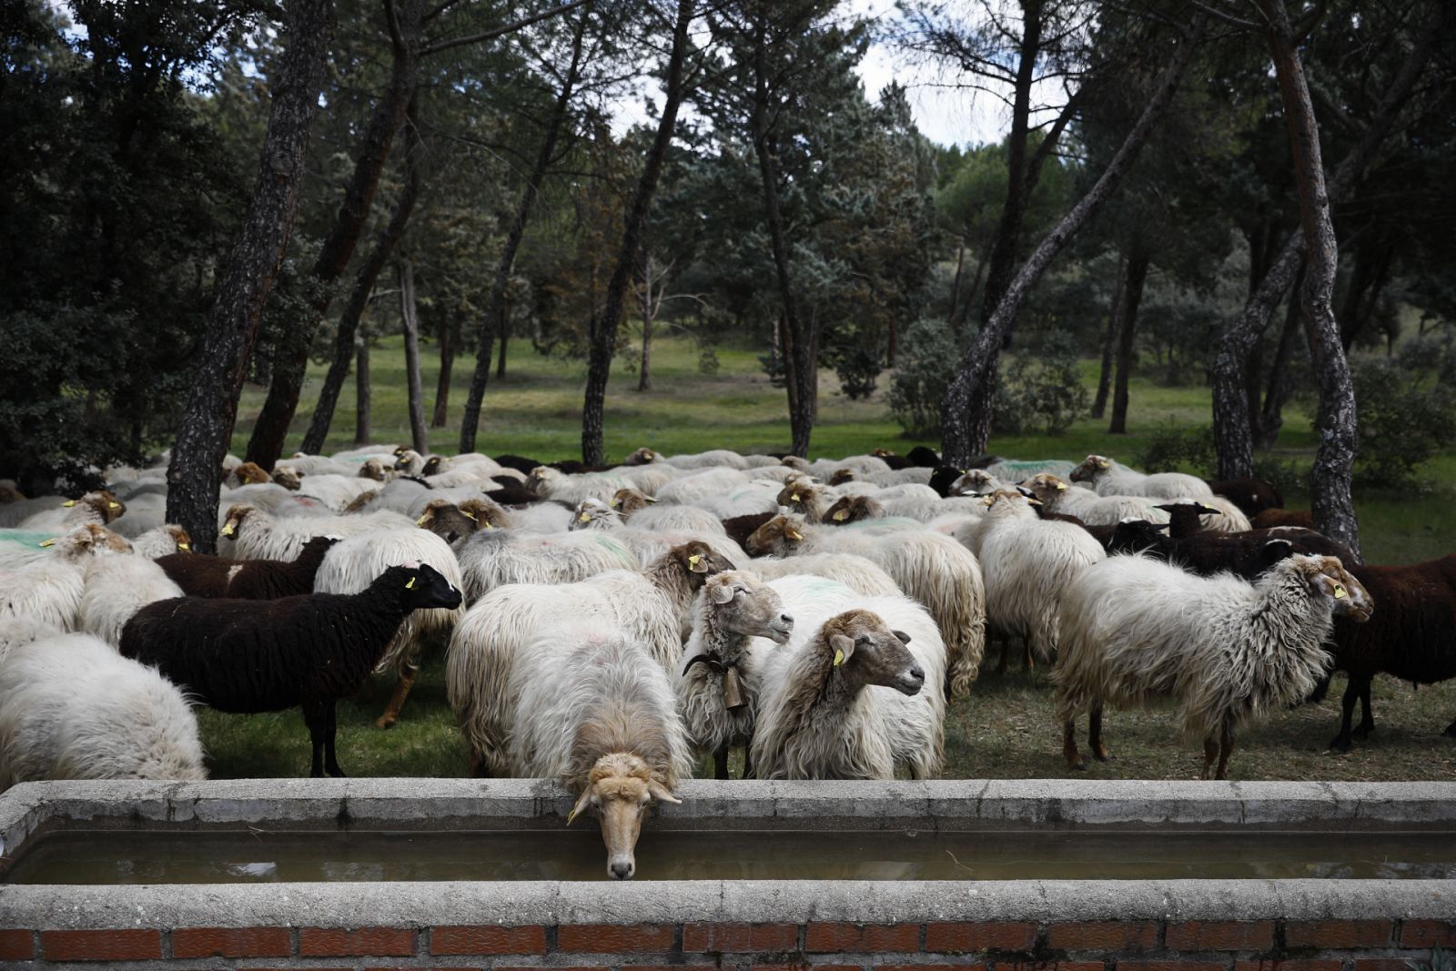
[[[6,927],[0,968],[597,971],[1406,971],[1441,920],[673,923],[437,927]]]

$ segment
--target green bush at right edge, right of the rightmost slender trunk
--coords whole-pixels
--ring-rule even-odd
[[[1357,361],[1351,377],[1358,416],[1356,483],[1409,488],[1423,463],[1456,444],[1456,395],[1449,384],[1427,384],[1389,358]]]

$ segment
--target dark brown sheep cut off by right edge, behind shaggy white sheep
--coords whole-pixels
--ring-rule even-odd
[[[1331,740],[1335,751],[1350,751],[1351,738],[1374,731],[1370,713],[1370,681],[1389,674],[1412,684],[1434,684],[1456,677],[1456,556],[1412,566],[1350,566],[1374,600],[1369,623],[1335,620],[1335,670],[1350,681],[1341,702],[1340,734]],[[1324,691],[1316,693],[1316,699]],[[1360,726],[1350,729],[1356,699]],[[1444,735],[1456,738],[1456,721]]]

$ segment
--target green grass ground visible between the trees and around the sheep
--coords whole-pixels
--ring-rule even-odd
[[[628,338],[632,339],[632,338]],[[409,438],[405,403],[403,355],[399,342],[384,342],[374,351],[374,441],[402,443]],[[654,341],[654,390],[638,393],[636,374],[616,362],[607,395],[606,450],[620,459],[651,445],[661,451],[786,450],[789,428],[782,390],[769,384],[759,370],[757,351],[719,348],[718,374],[697,371],[696,349],[683,339]],[[457,362],[451,389],[451,421],[459,422],[473,360]],[[425,355],[427,405],[432,403],[438,357]],[[542,358],[529,342],[511,345],[510,374],[494,374],[486,393],[479,448],[496,454],[513,451],[542,460],[579,457],[581,393],[585,367]],[[1085,362],[1089,384],[1095,362]],[[322,368],[310,367],[298,416],[288,447],[297,445],[313,412],[322,383]],[[844,456],[874,447],[906,451],[917,443],[900,438],[888,418],[884,390],[866,402],[852,402],[839,392],[833,374],[820,377],[820,421],[814,429],[812,456]],[[239,413],[233,445],[246,447],[252,419],[262,405],[262,389],[249,389]],[[427,409],[428,411],[428,409]],[[1041,435],[994,438],[992,450],[1022,459],[1080,459],[1088,453],[1130,457],[1146,448],[1152,435],[1172,424],[1179,428],[1207,425],[1210,393],[1204,387],[1160,387],[1137,377],[1131,383],[1128,434],[1108,435],[1105,422],[1082,419],[1059,438]],[[354,384],[347,384],[326,450],[345,448],[354,437]],[[1277,456],[1307,463],[1315,437],[1307,415],[1290,409]],[[431,448],[454,453],[459,425],[431,431]],[[1428,466],[1428,479],[1456,477],[1456,454],[1443,454]],[[1361,543],[1369,562],[1409,563],[1444,556],[1456,539],[1450,486],[1423,495],[1360,494],[1356,505],[1361,521]],[[1291,505],[1307,502],[1291,496]],[[986,668],[993,667],[987,659]],[[360,697],[339,705],[339,761],[360,776],[462,776],[466,751],[454,728],[444,696],[444,667],[438,646],[427,657],[403,719],[392,729],[374,728],[390,683],[377,677]],[[1325,751],[1340,716],[1342,677],[1337,677],[1329,699],[1280,712],[1239,740],[1233,756],[1236,779],[1456,779],[1456,741],[1440,731],[1456,716],[1456,681],[1415,691],[1408,684],[1377,678],[1374,684],[1374,735],[1345,756]],[[223,715],[199,712],[210,772],[215,777],[301,776],[309,770],[309,737],[297,710],[281,715]],[[1082,728],[1085,737],[1085,725]],[[1179,737],[1175,712],[1109,712],[1107,740],[1114,758],[1092,763],[1091,777],[1190,779],[1195,777],[1203,754],[1198,740]],[[986,673],[971,696],[951,708],[946,722],[948,777],[1060,777],[1069,774],[1060,756],[1061,738],[1051,709],[1045,671]],[[706,767],[706,766],[705,766]],[[1079,773],[1080,774],[1080,773]]]

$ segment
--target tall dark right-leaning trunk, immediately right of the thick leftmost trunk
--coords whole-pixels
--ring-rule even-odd
[[[272,469],[282,454],[288,424],[298,408],[298,392],[309,364],[309,346],[319,320],[329,309],[333,284],[344,275],[364,231],[374,191],[389,162],[395,132],[405,124],[405,111],[415,90],[415,48],[419,41],[419,19],[424,0],[400,0],[396,10],[392,0],[384,0],[384,20],[389,25],[390,49],[393,55],[389,87],[374,105],[368,127],[364,131],[354,173],[344,192],[333,226],[319,249],[313,265],[313,280],[319,294],[309,306],[307,316],[297,322],[297,339],[280,349],[282,360],[275,361],[272,383],[264,400],[253,435],[248,443],[248,460],[264,469]]]

